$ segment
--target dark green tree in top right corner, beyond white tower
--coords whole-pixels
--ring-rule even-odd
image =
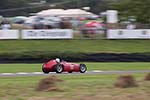
[[[135,16],[138,22],[150,23],[150,0],[119,0],[112,8],[121,16]]]

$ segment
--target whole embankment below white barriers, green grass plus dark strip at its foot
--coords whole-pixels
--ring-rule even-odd
[[[149,61],[149,40],[1,40],[0,62]],[[98,55],[93,55],[98,53]]]

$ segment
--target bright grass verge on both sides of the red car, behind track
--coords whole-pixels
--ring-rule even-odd
[[[150,63],[146,62],[85,62],[88,70],[150,70]],[[41,72],[42,64],[0,64],[0,73],[8,72]]]

